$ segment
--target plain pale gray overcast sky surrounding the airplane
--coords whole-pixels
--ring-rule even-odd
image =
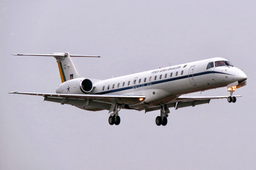
[[[255,1],[0,1],[0,169],[255,169]],[[108,79],[224,57],[247,86],[235,104],[88,112],[9,91],[55,92],[53,57],[70,52],[82,77]],[[193,95],[200,95],[196,93]],[[226,88],[202,92],[229,95]]]

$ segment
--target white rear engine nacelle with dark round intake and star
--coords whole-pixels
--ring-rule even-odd
[[[57,89],[57,94],[90,94],[93,83],[87,78],[77,78],[63,82]]]

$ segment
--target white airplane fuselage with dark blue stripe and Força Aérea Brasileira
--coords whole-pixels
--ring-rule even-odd
[[[227,60],[210,58],[94,82],[90,94],[146,96],[143,102],[129,105],[130,108],[136,109],[147,105],[169,103],[184,94],[226,87],[230,83],[246,80],[244,72],[237,67],[216,66],[217,61]],[[207,69],[207,64],[211,62],[214,64],[213,67]],[[62,86],[66,84],[68,87],[68,82],[62,83]],[[56,92],[83,94],[81,90],[72,87],[66,90],[66,86]],[[90,110],[90,107],[86,109]],[[95,111],[95,107],[92,110]]]

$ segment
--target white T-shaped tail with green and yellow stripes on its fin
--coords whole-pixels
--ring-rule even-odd
[[[81,78],[77,73],[76,68],[71,60],[71,57],[100,57],[89,55],[70,55],[69,53],[51,53],[51,54],[12,54],[12,55],[24,55],[24,56],[53,56],[59,67],[61,82],[65,82],[71,79]]]

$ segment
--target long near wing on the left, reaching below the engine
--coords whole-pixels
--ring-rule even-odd
[[[43,96],[45,101],[52,101],[62,105],[69,104],[86,108],[96,106],[101,109],[110,109],[113,104],[137,104],[143,101],[145,96],[132,95],[78,95],[78,94],[42,94],[33,92],[9,92],[9,94]]]

